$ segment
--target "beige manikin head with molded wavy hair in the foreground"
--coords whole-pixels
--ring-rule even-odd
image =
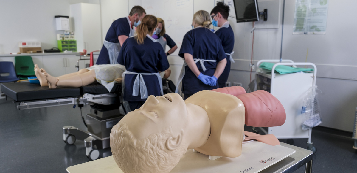
[[[141,108],[129,112],[111,130],[117,165],[125,173],[171,171],[187,150],[187,121],[187,107],[180,95],[149,96]]]

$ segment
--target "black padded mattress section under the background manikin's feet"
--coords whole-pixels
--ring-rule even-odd
[[[77,87],[50,89],[49,87],[41,87],[39,84],[29,82],[1,83],[1,92],[17,102],[81,96],[80,88]]]

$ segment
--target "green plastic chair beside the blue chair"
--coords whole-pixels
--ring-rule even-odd
[[[35,76],[35,65],[31,56],[15,56],[15,71],[20,79]]]

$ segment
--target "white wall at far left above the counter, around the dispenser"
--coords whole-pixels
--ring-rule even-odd
[[[57,47],[55,16],[70,16],[70,4],[98,0],[0,0],[0,54],[20,52],[18,42],[39,41]]]

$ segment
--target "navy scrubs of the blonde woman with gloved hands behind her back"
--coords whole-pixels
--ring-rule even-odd
[[[213,76],[216,71],[217,63],[226,58],[221,40],[210,29],[197,27],[186,33],[183,37],[182,45],[178,55],[184,58],[184,54],[189,53],[193,59],[216,60],[216,62],[205,61],[206,71],[202,70],[201,64],[196,63],[198,70],[203,75]],[[188,66],[185,67],[185,76],[182,79],[182,92],[186,94],[194,94],[202,90],[213,90],[216,86],[205,85],[197,79],[196,75]]]

